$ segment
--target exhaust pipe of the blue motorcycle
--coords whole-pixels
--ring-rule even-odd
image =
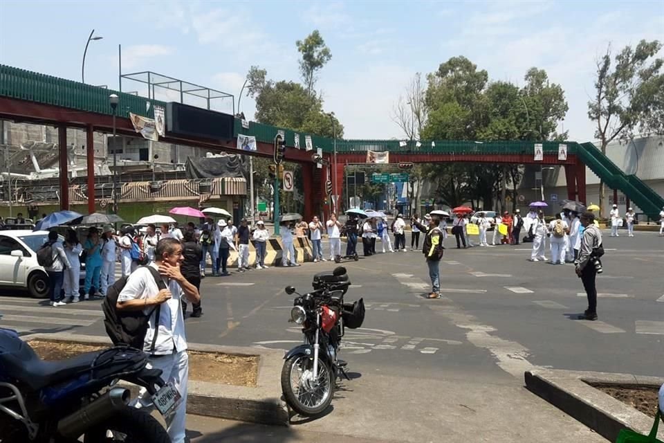
[[[118,410],[126,408],[129,399],[131,399],[129,389],[113,388],[91,404],[60,419],[57,423],[57,432],[63,437],[78,438],[89,428],[113,417]]]

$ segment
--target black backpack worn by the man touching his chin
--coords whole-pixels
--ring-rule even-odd
[[[152,266],[142,266],[149,269],[157,287],[166,289],[166,284],[159,272]],[[157,323],[161,313],[161,305],[157,305],[152,309],[149,314],[144,314],[142,310],[139,311],[118,311],[116,304],[118,303],[118,296],[127,284],[129,275],[117,280],[107,290],[106,297],[102,301],[102,311],[104,311],[104,327],[113,345],[128,345],[136,347],[136,349],[143,349],[143,342],[145,341],[145,334],[147,334],[148,322],[152,314],[155,314]],[[154,351],[154,345],[157,341],[157,334],[159,328],[155,329],[154,337],[152,338],[152,345],[150,352]]]

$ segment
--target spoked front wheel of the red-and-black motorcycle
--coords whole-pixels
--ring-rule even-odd
[[[313,374],[313,358],[294,355],[282,368],[282,392],[288,406],[299,415],[313,417],[326,410],[332,403],[335,377],[332,370],[318,359],[318,374]]]

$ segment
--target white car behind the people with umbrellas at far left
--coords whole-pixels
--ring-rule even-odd
[[[48,274],[37,263],[35,252],[47,240],[46,230],[0,230],[0,287],[27,289],[35,298],[48,297]]]

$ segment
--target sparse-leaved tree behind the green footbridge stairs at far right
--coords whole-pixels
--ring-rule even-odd
[[[636,48],[625,46],[611,65],[611,45],[597,61],[596,94],[588,102],[588,116],[597,123],[596,138],[606,154],[615,138],[664,131],[663,59],[655,57],[662,44],[641,40]],[[600,180],[600,216],[605,213],[605,183]]]

